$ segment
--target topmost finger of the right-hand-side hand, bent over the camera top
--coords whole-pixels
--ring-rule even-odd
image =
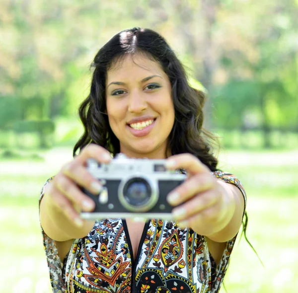
[[[210,173],[210,169],[197,157],[190,153],[172,155],[165,161],[165,166],[172,169],[185,169],[190,175],[197,173]]]

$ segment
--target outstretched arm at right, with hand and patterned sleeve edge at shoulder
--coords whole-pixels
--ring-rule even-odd
[[[169,157],[167,167],[182,168],[188,174],[185,182],[167,197],[171,205],[180,205],[173,209],[178,225],[191,227],[216,242],[232,239],[240,228],[245,208],[245,191],[239,181],[228,173],[212,174],[189,153]]]

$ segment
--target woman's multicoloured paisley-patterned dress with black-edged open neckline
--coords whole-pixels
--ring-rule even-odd
[[[239,180],[230,173],[213,174],[237,186],[246,207]],[[206,238],[173,221],[147,221],[136,261],[124,219],[95,221],[88,235],[74,239],[63,262],[55,240],[42,234],[53,293],[218,293],[237,236],[226,242],[216,265]]]

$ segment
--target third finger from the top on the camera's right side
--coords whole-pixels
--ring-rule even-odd
[[[215,190],[207,191],[195,196],[182,206],[173,209],[172,215],[176,220],[185,220],[215,205],[219,205],[221,201],[222,197]]]

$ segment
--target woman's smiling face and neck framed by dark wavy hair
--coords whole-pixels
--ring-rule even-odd
[[[175,118],[171,84],[160,65],[140,55],[107,72],[109,123],[129,157],[165,158]]]

